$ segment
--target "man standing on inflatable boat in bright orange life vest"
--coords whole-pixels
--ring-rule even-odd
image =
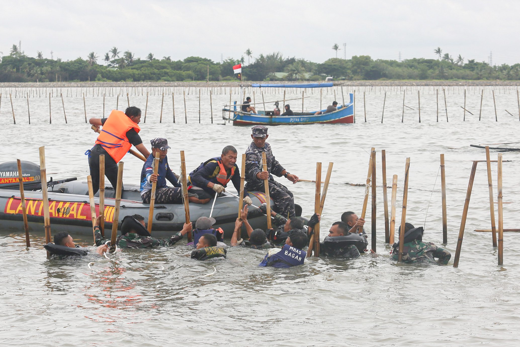
[[[99,189],[99,156],[105,155],[105,176],[116,187],[118,182],[118,162],[125,156],[132,145],[142,153],[145,158],[150,155],[148,149],[142,144],[141,137],[137,134],[141,130],[139,121],[141,110],[135,106],[126,108],[125,112],[112,110],[108,118],[90,118],[90,124],[103,126],[96,139],[96,144],[88,153],[88,165],[92,176],[92,188],[94,194]],[[85,153],[85,154],[87,154]]]

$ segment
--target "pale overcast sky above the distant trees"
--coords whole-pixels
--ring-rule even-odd
[[[200,56],[219,61],[281,52],[323,62],[335,57],[520,62],[518,1],[7,1],[0,5],[0,52],[62,60],[102,57],[113,46],[136,57]],[[346,50],[343,44],[346,43]],[[247,62],[247,57],[245,57]]]

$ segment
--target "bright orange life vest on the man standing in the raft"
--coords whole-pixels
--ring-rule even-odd
[[[141,128],[134,123],[123,111],[112,110],[103,124],[96,144],[101,145],[117,163],[128,152],[132,144],[128,142],[126,132],[134,128],[139,133]]]

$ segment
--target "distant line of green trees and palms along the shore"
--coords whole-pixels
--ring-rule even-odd
[[[337,44],[332,47],[336,51]],[[302,80],[321,81],[331,76],[335,80],[520,80],[520,63],[490,66],[487,62],[460,55],[453,59],[434,50],[438,59],[413,58],[373,60],[370,56],[350,59],[331,58],[322,63],[305,59],[284,58],[279,52],[253,57],[248,48],[241,59],[228,58],[222,62],[201,57],[172,60],[157,59],[152,53],[146,59],[135,58],[130,52],[113,47],[101,60],[91,52],[86,59],[62,61],[25,55],[13,45],[9,55],[0,62],[0,82],[54,82],[54,81],[230,81],[234,80],[232,66],[242,63],[242,76],[250,81]],[[99,61],[99,62],[98,62]]]

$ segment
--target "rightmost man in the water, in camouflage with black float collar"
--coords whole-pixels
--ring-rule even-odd
[[[399,235],[401,226],[399,226]],[[410,223],[405,223],[405,239],[402,249],[402,261],[405,263],[430,263],[447,265],[451,253],[433,242],[423,242],[423,227],[415,228]],[[392,259],[399,260],[399,240],[392,246]],[[435,260],[437,258],[437,260]]]

